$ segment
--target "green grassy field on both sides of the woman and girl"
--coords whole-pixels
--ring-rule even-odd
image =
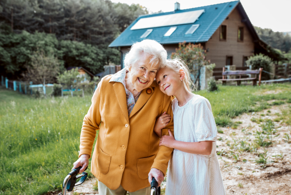
[[[264,94],[274,90],[279,93]],[[291,101],[291,84],[219,86],[199,91],[209,99],[218,125],[231,118]],[[35,99],[0,88],[0,195],[43,195],[61,189],[78,158],[81,124],[91,96]],[[90,173],[90,167],[88,172]]]

